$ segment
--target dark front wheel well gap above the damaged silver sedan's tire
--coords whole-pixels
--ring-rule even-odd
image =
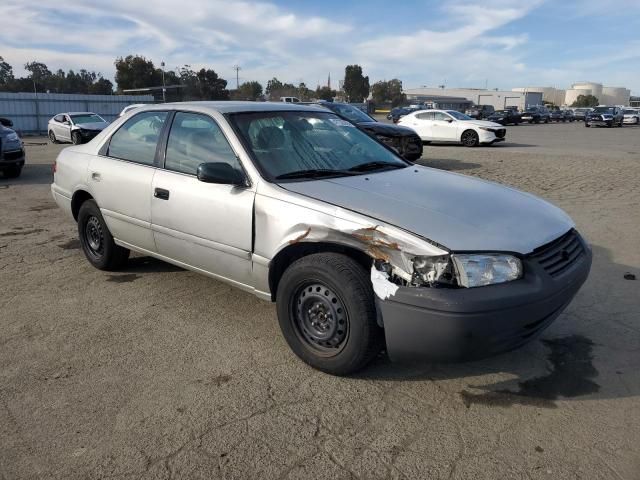
[[[275,301],[278,284],[285,270],[296,260],[311,255],[313,253],[341,253],[353,258],[362,265],[365,270],[371,268],[373,259],[361,250],[346,245],[329,242],[300,242],[284,248],[271,260],[269,266],[269,290],[271,290],[271,300]]]

